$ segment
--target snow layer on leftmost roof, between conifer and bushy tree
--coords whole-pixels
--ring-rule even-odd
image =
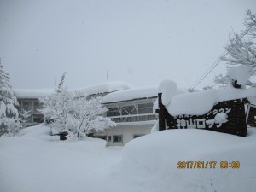
[[[15,96],[18,99],[38,99],[44,96],[50,96],[54,89],[14,89]]]

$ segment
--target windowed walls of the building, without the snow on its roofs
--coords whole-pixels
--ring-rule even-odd
[[[89,96],[88,99],[99,95]],[[101,96],[104,95],[106,93]],[[111,118],[117,126],[95,132],[93,137],[105,139],[107,146],[123,146],[135,137],[149,134],[157,119],[157,115],[153,113],[154,101],[155,97],[106,104],[105,107],[109,111],[103,116]],[[43,123],[44,116],[38,111],[43,105],[38,99],[18,99],[18,102],[20,112],[24,110],[31,112],[31,116],[26,119],[26,126]]]

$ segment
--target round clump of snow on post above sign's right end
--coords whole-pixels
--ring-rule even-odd
[[[227,76],[230,77],[230,79],[237,80],[237,84],[246,84],[247,80],[250,78],[250,71],[249,68],[245,66],[230,67]]]

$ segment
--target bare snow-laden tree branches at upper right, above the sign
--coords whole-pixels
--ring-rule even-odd
[[[250,76],[256,75],[256,15],[251,10],[247,10],[245,18],[246,30],[241,33],[235,33],[234,38],[230,39],[229,44],[225,46],[227,54],[221,56],[222,61],[226,61],[228,68],[247,67]],[[241,67],[242,70],[244,68]],[[227,84],[237,84],[236,79],[232,79],[229,75],[218,75],[214,79],[215,84],[221,84],[225,87]],[[247,79],[245,85],[256,86]],[[236,85],[235,85],[236,86]],[[239,84],[237,85],[239,86]]]

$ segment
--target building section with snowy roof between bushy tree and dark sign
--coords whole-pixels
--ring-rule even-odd
[[[157,86],[119,90],[104,96],[106,115],[116,126],[94,136],[106,139],[107,146],[122,146],[133,138],[149,134],[157,120],[153,110],[156,98]]]

